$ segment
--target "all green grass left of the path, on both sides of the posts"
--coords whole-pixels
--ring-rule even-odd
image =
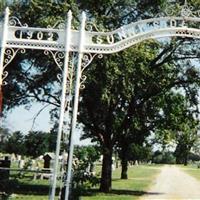
[[[160,166],[147,166],[139,165],[129,168],[129,179],[121,180],[120,172],[121,168],[113,171],[113,190],[109,194],[99,193],[97,188],[91,189],[84,194],[81,199],[93,200],[93,199],[139,199],[144,195],[147,189],[150,187],[155,176],[159,173]],[[97,168],[99,173],[99,168]],[[16,172],[11,173],[11,180],[9,189],[12,190],[12,195],[9,200],[45,200],[48,199],[49,194],[49,181],[45,180],[33,180],[33,173],[25,173],[24,177],[16,179]]]

